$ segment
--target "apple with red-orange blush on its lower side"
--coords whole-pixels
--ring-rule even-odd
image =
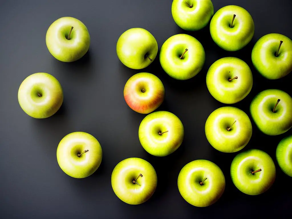
[[[164,100],[164,86],[154,74],[142,72],[133,75],[124,88],[128,106],[136,112],[148,114]]]

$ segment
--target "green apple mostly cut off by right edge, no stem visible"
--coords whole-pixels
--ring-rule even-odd
[[[280,141],[276,158],[281,170],[288,176],[292,176],[292,135]]]

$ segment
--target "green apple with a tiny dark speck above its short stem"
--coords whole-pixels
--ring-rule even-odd
[[[206,82],[209,92],[216,100],[233,104],[241,101],[251,91],[253,75],[244,61],[226,57],[211,65]]]

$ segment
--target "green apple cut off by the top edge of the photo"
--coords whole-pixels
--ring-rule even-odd
[[[185,30],[199,30],[214,14],[211,0],[173,0],[171,13],[175,23]]]

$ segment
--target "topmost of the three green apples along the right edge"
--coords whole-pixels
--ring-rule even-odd
[[[251,60],[265,78],[282,78],[292,71],[292,41],[282,34],[267,34],[254,45]]]

